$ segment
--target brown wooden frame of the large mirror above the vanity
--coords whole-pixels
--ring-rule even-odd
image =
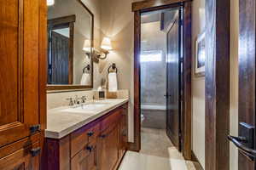
[[[91,16],[91,36],[90,36],[90,46],[91,46],[91,54],[92,49],[94,48],[94,14],[90,11],[89,8],[86,7],[86,5],[81,0],[76,0],[78,3],[80,3],[85,10],[90,14]],[[47,40],[48,41],[48,40]],[[48,60],[48,57],[47,59]],[[61,91],[61,90],[84,90],[84,89],[92,89],[93,88],[93,59],[90,58],[90,65],[91,65],[91,77],[90,77],[90,86],[83,86],[83,85],[51,85],[47,84],[46,90],[47,91]],[[47,74],[48,75],[48,74]]]

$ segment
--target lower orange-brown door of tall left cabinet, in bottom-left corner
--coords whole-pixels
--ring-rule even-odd
[[[39,170],[39,143],[31,144],[24,149],[17,150],[9,156],[0,159],[0,170]]]

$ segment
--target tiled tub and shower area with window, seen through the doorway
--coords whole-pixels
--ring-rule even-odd
[[[142,127],[166,129],[166,27],[172,9],[145,13],[141,25]],[[168,24],[169,23],[169,24]]]

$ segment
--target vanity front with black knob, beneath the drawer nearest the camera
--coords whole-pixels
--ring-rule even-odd
[[[96,143],[88,144],[84,150],[72,158],[72,170],[96,170],[97,169],[97,147]]]

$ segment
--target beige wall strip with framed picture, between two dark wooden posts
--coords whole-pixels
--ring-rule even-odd
[[[205,167],[205,78],[195,77],[195,40],[206,25],[205,0],[194,0],[192,8],[192,150]]]

